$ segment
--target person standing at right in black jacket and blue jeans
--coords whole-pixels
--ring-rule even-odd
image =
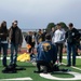
[[[79,31],[73,27],[72,23],[68,25],[68,31],[66,32],[67,40],[67,66],[71,66],[71,52],[72,52],[72,66],[76,66],[76,48],[77,40],[80,38]]]

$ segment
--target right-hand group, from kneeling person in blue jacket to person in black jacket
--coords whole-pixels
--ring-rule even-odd
[[[53,71],[55,62],[63,62],[63,48],[67,42],[67,67],[76,66],[76,56],[78,43],[80,43],[80,32],[73,27],[72,23],[68,24],[68,30],[65,31],[60,24],[56,25],[56,29],[45,35],[45,41],[38,44],[37,48],[37,68],[41,71],[41,66],[44,66],[44,72]],[[79,44],[80,45],[80,44]],[[72,53],[72,55],[71,55]],[[72,56],[72,60],[71,60]]]

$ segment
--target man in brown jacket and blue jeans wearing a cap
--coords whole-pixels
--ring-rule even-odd
[[[11,44],[10,65],[16,67],[18,48],[22,46],[23,43],[23,35],[21,28],[17,26],[17,21],[14,21],[10,28],[9,42]]]

